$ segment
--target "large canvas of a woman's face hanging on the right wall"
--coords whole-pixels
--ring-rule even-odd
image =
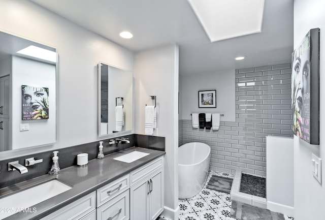
[[[294,135],[319,144],[319,28],[310,29],[292,54]]]

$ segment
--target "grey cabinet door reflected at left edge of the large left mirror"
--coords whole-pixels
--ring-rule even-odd
[[[9,76],[0,78],[0,117],[9,118]]]

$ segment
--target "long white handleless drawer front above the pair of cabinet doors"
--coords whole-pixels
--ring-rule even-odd
[[[130,173],[131,185],[135,184],[142,178],[146,177],[148,174],[152,173],[154,170],[162,167],[164,165],[164,156],[138,168]]]

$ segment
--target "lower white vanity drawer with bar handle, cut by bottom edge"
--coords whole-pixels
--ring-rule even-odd
[[[129,189],[97,209],[98,220],[127,220],[130,218]]]

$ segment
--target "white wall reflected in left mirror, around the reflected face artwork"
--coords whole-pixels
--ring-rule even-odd
[[[21,85],[49,89],[48,119],[21,120]],[[54,143],[56,139],[55,65],[12,56],[11,91],[12,149]],[[20,123],[28,123],[29,130],[21,132]]]

